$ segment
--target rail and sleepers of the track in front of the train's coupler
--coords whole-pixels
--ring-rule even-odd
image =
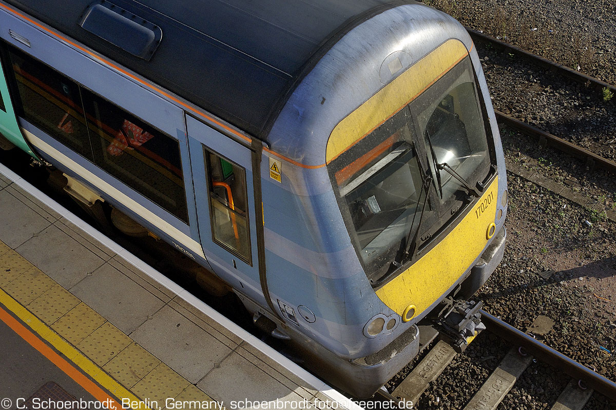
[[[594,392],[616,403],[616,383],[612,380],[484,310],[481,315],[486,331],[501,337],[512,347],[479,390],[471,396],[463,410],[496,409],[533,360],[548,363],[555,370],[571,377],[569,384],[551,407],[552,410],[582,410]],[[393,392],[379,390],[378,400],[392,402],[399,408],[415,408],[430,383],[440,376],[455,356],[456,352],[450,345],[444,341],[437,342]]]

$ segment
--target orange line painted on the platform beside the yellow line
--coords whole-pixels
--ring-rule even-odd
[[[4,321],[9,328],[13,329],[13,331],[22,337],[23,340],[28,342],[28,344],[34,347],[34,349],[38,350],[44,357],[54,363],[54,365],[66,373],[71,379],[75,380],[75,382],[83,387],[88,393],[94,396],[96,400],[111,403],[111,408],[115,410],[120,410],[122,408],[118,401],[114,400],[110,395],[105,393],[102,388],[84,376],[84,374],[78,371],[75,366],[60,357],[58,353],[54,352],[54,350],[41,341],[41,339],[34,336],[34,333],[19,323],[14,317],[9,315],[9,313],[2,309],[2,307],[0,307],[0,320]]]

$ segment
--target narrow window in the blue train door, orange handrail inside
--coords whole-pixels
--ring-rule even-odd
[[[246,171],[203,149],[214,242],[251,263],[246,198]]]

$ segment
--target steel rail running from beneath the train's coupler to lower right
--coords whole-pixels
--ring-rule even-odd
[[[554,368],[560,369],[574,379],[583,380],[589,388],[601,393],[607,398],[616,401],[616,383],[601,376],[586,366],[563,355],[561,352],[536,341],[528,334],[514,328],[508,323],[481,310],[481,321],[485,323],[488,331],[502,337],[510,343],[524,347],[530,354]]]

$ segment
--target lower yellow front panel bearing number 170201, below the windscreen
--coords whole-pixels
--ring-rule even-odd
[[[386,283],[376,295],[402,316],[414,304],[415,315],[428,309],[468,269],[484,249],[494,222],[498,178],[485,190],[460,224],[410,268]]]

